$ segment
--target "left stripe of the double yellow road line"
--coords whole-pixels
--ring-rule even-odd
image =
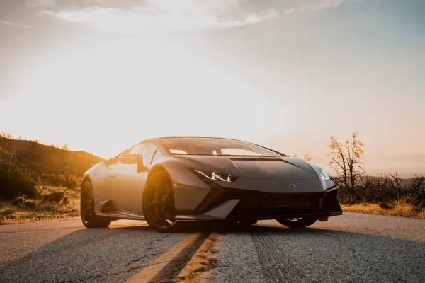
[[[133,277],[128,279],[127,282],[131,282],[131,283],[150,282],[156,275],[159,274],[159,272],[161,272],[161,270],[164,269],[164,267],[166,267],[166,265],[169,262],[171,262],[171,260],[173,260],[174,258],[176,258],[177,255],[179,255],[181,250],[187,248],[193,242],[195,242],[198,236],[200,236],[200,233],[192,233],[183,241],[181,241],[176,246],[171,248],[171,250],[169,250],[167,253],[157,258],[146,267],[143,267],[143,269],[139,273],[137,273],[137,275],[134,275]]]

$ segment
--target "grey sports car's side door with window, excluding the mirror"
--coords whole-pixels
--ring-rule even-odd
[[[152,142],[138,144],[130,154],[143,156],[143,164],[149,167],[157,146]],[[147,170],[137,172],[137,164],[120,163],[118,183],[120,183],[120,208],[130,212],[142,213],[142,192],[147,179]]]

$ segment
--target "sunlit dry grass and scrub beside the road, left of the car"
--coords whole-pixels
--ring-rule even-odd
[[[21,198],[21,203],[0,202],[0,225],[37,222],[52,219],[69,219],[79,216],[79,189],[67,190],[63,187],[41,187],[36,200]],[[67,200],[52,202],[44,195],[64,192]]]

